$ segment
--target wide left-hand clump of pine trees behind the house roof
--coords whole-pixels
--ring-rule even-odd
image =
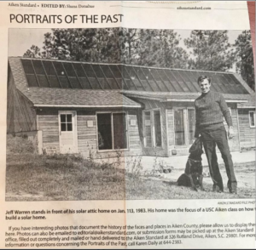
[[[172,30],[53,29],[44,34],[42,51],[32,45],[24,56],[186,68],[188,54],[178,47],[180,39]]]

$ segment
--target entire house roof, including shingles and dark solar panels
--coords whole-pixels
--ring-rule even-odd
[[[138,106],[129,99],[138,95],[161,101],[188,101],[201,92],[197,78],[202,74],[212,77],[212,90],[227,99],[241,101],[253,94],[247,83],[232,72],[20,57],[9,57],[9,66],[16,88],[34,105]]]

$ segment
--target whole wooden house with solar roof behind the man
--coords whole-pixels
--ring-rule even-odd
[[[36,138],[39,153],[186,155],[202,74],[230,107],[231,151],[254,147],[254,93],[235,73],[19,57],[9,58],[7,133]]]

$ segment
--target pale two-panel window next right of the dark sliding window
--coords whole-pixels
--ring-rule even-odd
[[[162,131],[160,111],[143,111],[145,147],[161,147]]]

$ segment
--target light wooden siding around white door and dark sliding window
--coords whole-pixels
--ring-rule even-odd
[[[126,111],[126,114],[129,148],[120,151],[121,156],[141,155],[142,148],[138,131],[137,111]],[[132,125],[131,120],[135,121],[136,125]],[[92,122],[92,127],[88,127],[89,121]],[[58,110],[38,109],[38,129],[42,130],[44,151],[60,153]],[[78,152],[84,157],[105,158],[117,156],[117,151],[97,150],[96,111],[77,111],[77,135]]]

